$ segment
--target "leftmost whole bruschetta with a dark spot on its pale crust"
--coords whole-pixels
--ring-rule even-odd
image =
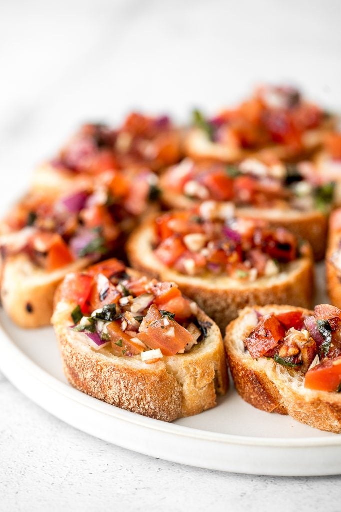
[[[53,294],[64,276],[122,242],[150,207],[150,184],[140,175],[108,171],[92,187],[52,196],[35,191],[0,225],[2,304],[21,327],[50,323]]]

